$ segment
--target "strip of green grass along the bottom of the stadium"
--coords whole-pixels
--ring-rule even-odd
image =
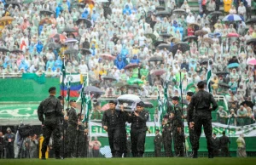
[[[196,164],[196,165],[250,165],[255,164],[256,158],[77,158],[77,159],[65,159],[65,160],[39,160],[39,159],[14,159],[14,160],[1,160],[0,164],[4,165],[185,165],[185,164]]]

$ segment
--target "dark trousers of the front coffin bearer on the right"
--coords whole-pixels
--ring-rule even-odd
[[[131,128],[131,153],[132,156],[143,156],[146,139],[145,129]]]

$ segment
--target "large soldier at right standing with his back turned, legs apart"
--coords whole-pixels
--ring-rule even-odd
[[[201,126],[204,127],[204,132],[207,137],[208,157],[213,158],[212,151],[212,111],[218,107],[212,94],[204,90],[205,84],[203,81],[197,83],[199,91],[192,96],[188,108],[189,127],[194,128],[194,145],[193,158],[197,158],[199,149],[199,139],[201,136]],[[212,107],[211,107],[212,104]],[[195,110],[195,115],[193,112]]]

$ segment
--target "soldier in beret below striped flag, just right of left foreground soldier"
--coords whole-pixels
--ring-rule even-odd
[[[77,115],[77,103],[75,100],[70,100],[69,101],[70,109],[68,110],[68,127],[67,127],[67,140],[68,140],[68,145],[67,145],[67,156],[68,157],[75,157],[74,155],[74,146],[75,140],[76,140],[76,133],[77,133],[77,127],[82,125],[82,122],[79,122],[79,118]]]

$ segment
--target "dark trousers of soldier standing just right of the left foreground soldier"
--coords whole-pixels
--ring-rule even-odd
[[[74,154],[74,146],[76,141],[76,134],[77,134],[77,127],[69,125],[67,128],[67,139],[68,139],[68,145],[67,145],[67,155],[70,156],[71,154]],[[73,155],[74,156],[74,155]]]

